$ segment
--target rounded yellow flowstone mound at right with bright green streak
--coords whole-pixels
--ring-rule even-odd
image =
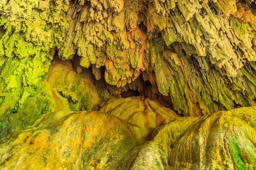
[[[181,117],[157,128],[131,170],[254,170],[256,108]]]

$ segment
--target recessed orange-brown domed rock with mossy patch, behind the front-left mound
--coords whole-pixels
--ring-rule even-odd
[[[70,61],[54,59],[46,76],[52,91],[58,93],[55,95],[67,99],[70,110],[91,111],[93,105],[100,104],[99,95],[93,84],[92,72],[82,70],[81,73],[77,73]],[[61,101],[56,101],[55,105],[60,103]],[[58,108],[56,110],[55,108],[55,111],[59,110],[65,109]]]

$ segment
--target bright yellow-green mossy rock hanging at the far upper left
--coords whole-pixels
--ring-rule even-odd
[[[2,120],[7,120],[10,113],[17,112],[30,96],[36,95],[37,83],[44,79],[52,60],[49,51],[51,48],[59,48],[64,42],[63,34],[68,26],[65,14],[67,4],[63,3],[61,8],[52,6],[50,10],[46,3],[47,6],[38,8],[48,10],[41,11],[34,10],[37,1],[31,2],[25,6],[20,1],[13,3],[17,7],[21,5],[18,8],[21,10],[19,20],[16,20],[17,11],[13,7],[10,7],[8,14],[0,17],[0,48],[3,49],[0,52]],[[6,9],[9,5],[10,3],[6,3]]]

